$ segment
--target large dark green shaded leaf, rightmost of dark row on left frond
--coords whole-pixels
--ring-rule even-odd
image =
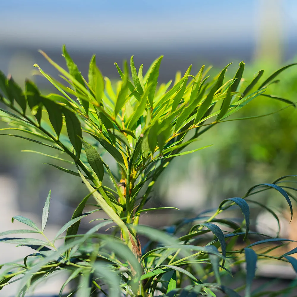
[[[76,151],[77,159],[79,159],[82,148],[82,143],[80,139],[83,138],[83,132],[81,130],[80,121],[75,116],[75,113],[73,113],[66,107],[63,107],[63,113],[65,116],[69,140]]]

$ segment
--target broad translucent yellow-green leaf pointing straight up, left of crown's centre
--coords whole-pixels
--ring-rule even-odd
[[[105,89],[105,81],[99,68],[96,66],[95,55],[92,57],[89,66],[89,86],[93,91],[97,102],[100,103]]]

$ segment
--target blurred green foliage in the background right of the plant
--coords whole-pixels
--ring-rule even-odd
[[[282,63],[294,63],[296,59]],[[234,63],[236,67],[237,63]],[[263,80],[276,71],[276,63],[246,63],[245,76],[250,81],[256,71],[265,69]],[[230,67],[226,72],[233,73]],[[229,79],[231,77],[228,77]],[[269,86],[269,94],[297,102],[297,68],[291,67],[280,74]],[[278,83],[281,81],[281,83]],[[245,81],[242,84],[247,84]],[[281,110],[284,108],[283,110]],[[281,110],[274,113],[277,110]],[[249,117],[251,114],[265,117],[230,121],[216,125],[206,134],[203,143],[214,144],[207,150],[176,159],[160,182],[160,191],[166,195],[170,185],[186,181],[192,176],[196,164],[204,176],[206,192],[204,205],[211,207],[227,197],[244,194],[244,188],[257,182],[267,182],[277,176],[297,173],[297,113],[293,106],[260,96],[242,108],[234,118]],[[198,162],[197,162],[198,160]],[[195,162],[196,161],[196,162]],[[194,181],[195,182],[195,181]],[[197,181],[198,182],[198,181]],[[214,187],[215,185],[215,187]],[[203,190],[203,189],[201,189]],[[224,193],[224,196],[222,196]],[[282,201],[276,196],[265,196],[269,205],[279,207]],[[184,198],[186,199],[186,197]],[[198,202],[198,201],[197,201]]]

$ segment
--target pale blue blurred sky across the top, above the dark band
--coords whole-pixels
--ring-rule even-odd
[[[9,0],[1,1],[0,39],[102,48],[254,42],[271,1],[294,35],[296,0]]]

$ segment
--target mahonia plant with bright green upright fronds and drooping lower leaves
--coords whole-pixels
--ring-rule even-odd
[[[267,238],[264,234],[251,232],[248,205],[249,202],[265,208],[279,223],[274,211],[248,198],[258,192],[275,189],[284,196],[292,214],[290,198],[294,196],[287,190],[296,189],[278,185],[285,182],[286,177],[271,184],[258,184],[249,189],[243,198],[223,200],[213,214],[204,212],[163,230],[139,224],[142,212],[165,208],[145,207],[155,182],[170,162],[175,157],[203,149],[185,151],[189,144],[214,125],[234,120],[230,118],[233,113],[266,92],[274,78],[294,64],[274,72],[260,85],[258,82],[263,70],[247,83],[242,77],[244,62],[241,62],[234,78],[226,82],[224,76],[230,64],[214,79],[207,75],[210,68],[202,66],[196,75],[192,75],[190,66],[183,76],[180,72],[176,74],[173,86],[171,80],[158,86],[162,56],[151,64],[145,75],[143,65],[138,71],[135,68],[133,56],[131,73],[127,62],[124,62],[123,70],[115,64],[121,80],[113,84],[96,66],[95,56],[89,64],[86,80],[65,46],[63,56],[68,70],[44,52],[40,53],[59,71],[66,85],[45,73],[37,64],[34,66],[59,94],[41,94],[30,80],[26,80],[23,90],[11,76],[6,77],[0,72],[0,99],[6,106],[1,109],[0,119],[11,126],[1,130],[24,132],[1,136],[19,137],[53,149],[53,155],[30,152],[65,161],[68,164],[65,168],[50,165],[80,177],[89,194],[81,200],[72,219],[53,240],[44,234],[50,193],[43,209],[41,227],[22,216],[12,218],[12,221],[22,222],[30,229],[10,230],[0,233],[0,236],[38,233],[44,236],[44,240],[28,237],[0,239],[3,243],[35,250],[22,262],[2,265],[0,290],[18,282],[17,296],[24,296],[32,286],[48,276],[66,271],[68,278],[60,288],[59,296],[216,296],[218,291],[228,296],[239,296],[236,290],[226,286],[224,279],[226,275],[232,275],[236,265],[246,261],[245,290],[249,297],[252,296],[251,283],[257,260],[267,256],[289,261],[297,269],[297,260],[289,256],[295,250],[274,257],[269,255],[271,247],[265,246],[261,252],[251,248],[263,243],[283,244],[286,241],[278,236]],[[287,106],[293,105],[287,99],[271,98],[285,101]],[[24,136],[26,134],[28,137]],[[118,170],[110,169],[110,164],[102,159],[102,151],[113,157]],[[72,161],[61,158],[62,154],[68,155]],[[103,182],[108,179],[112,188]],[[91,196],[96,201],[96,208],[84,213]],[[244,216],[242,224],[221,216],[217,218],[231,206],[240,208]],[[103,210],[109,219],[101,219],[88,232],[78,234],[80,220],[98,210]],[[112,234],[98,232],[107,225],[113,227]],[[229,231],[223,231],[222,226],[227,226]],[[207,237],[208,233],[212,233],[214,239]],[[142,248],[139,235],[148,238],[148,243]],[[64,238],[64,244],[57,247],[55,241],[59,238]],[[241,250],[234,249],[238,238],[247,241],[246,247]],[[72,288],[65,293],[69,284]],[[244,287],[237,288],[237,291],[241,289]]]

